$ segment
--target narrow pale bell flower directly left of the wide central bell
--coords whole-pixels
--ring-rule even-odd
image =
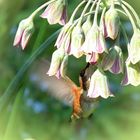
[[[71,35],[70,54],[72,54],[76,58],[81,57],[83,55],[83,52],[81,51],[81,47],[84,43],[84,40],[85,40],[85,36],[82,27],[76,25]]]

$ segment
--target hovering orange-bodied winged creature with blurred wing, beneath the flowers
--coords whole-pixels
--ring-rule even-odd
[[[38,69],[31,70],[30,79],[42,90],[50,91],[50,95],[72,107],[71,121],[89,118],[98,106],[98,99],[87,96],[90,76],[92,75],[91,65],[87,63],[79,74],[79,85],[77,86],[68,76],[61,79],[49,77],[46,70],[49,69],[49,62],[39,61]],[[43,87],[43,88],[42,88]],[[58,92],[59,91],[59,92]]]

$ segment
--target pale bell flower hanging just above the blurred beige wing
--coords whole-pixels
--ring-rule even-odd
[[[67,60],[66,56],[63,48],[59,48],[53,53],[51,65],[47,73],[49,76],[55,75],[57,78],[64,76],[64,68]]]

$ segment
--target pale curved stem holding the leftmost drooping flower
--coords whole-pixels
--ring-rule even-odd
[[[54,1],[56,1],[56,0],[51,0],[51,1],[44,3],[43,5],[38,7],[29,17],[31,19],[33,19],[36,16],[36,14],[38,14],[38,12],[40,12],[43,8],[45,8],[47,5],[49,5],[50,3],[54,2]]]

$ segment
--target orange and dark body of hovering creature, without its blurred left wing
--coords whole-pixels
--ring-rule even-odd
[[[70,83],[69,85],[71,85],[71,93],[74,96],[71,120],[89,118],[98,106],[97,99],[89,98],[87,96],[90,75],[90,63],[87,63],[86,67],[79,74],[80,86],[77,86],[68,77],[66,78],[67,82]]]

